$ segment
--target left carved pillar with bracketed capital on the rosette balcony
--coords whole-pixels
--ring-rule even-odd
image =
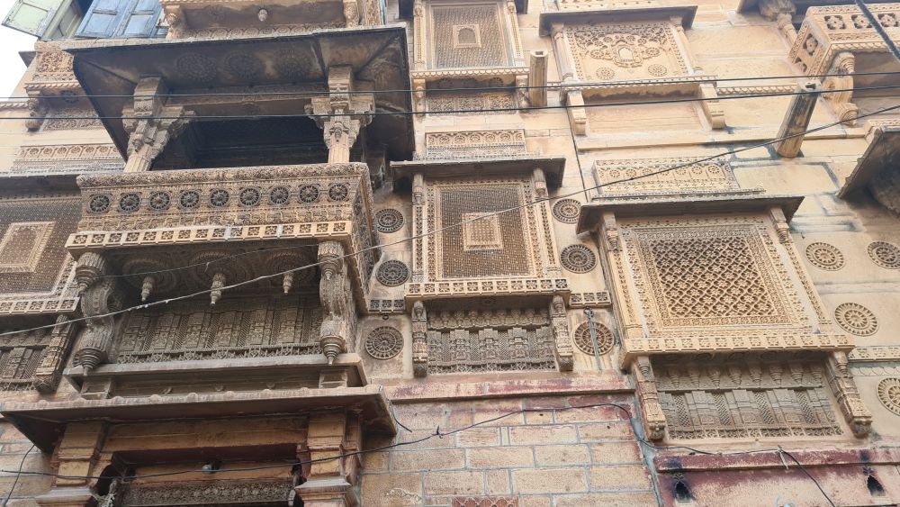
[[[134,88],[134,104],[122,109],[129,134],[125,172],[148,171],[166,143],[190,122],[193,112],[164,104],[166,91],[161,77],[144,77]]]

